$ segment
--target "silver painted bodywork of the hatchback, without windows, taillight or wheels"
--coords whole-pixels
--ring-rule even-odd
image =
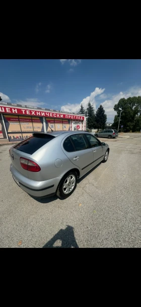
[[[107,144],[102,146],[100,141],[98,141],[97,147],[94,148],[66,152],[63,148],[63,142],[68,136],[74,135],[74,133],[89,134],[84,131],[66,131],[62,134],[54,133],[56,136],[33,154],[27,154],[14,147],[10,149],[11,173],[15,181],[19,183],[25,192],[35,197],[53,195],[56,193],[61,179],[67,172],[76,169],[78,174],[80,174],[79,178],[81,178],[103,160],[105,152],[109,147]],[[95,140],[97,139],[95,138]],[[96,141],[96,143],[98,142]],[[87,145],[89,143],[87,139],[86,143]],[[34,161],[40,166],[41,170],[33,172],[23,169],[20,164],[20,157]]]

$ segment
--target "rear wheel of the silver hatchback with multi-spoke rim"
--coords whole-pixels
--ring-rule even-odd
[[[70,171],[69,173],[65,174],[65,176],[61,179],[58,185],[56,195],[60,199],[65,199],[69,197],[71,194],[73,194],[73,192],[75,191],[77,187],[77,179],[78,179],[78,173],[76,171]],[[72,184],[71,184],[71,181],[72,181]],[[70,188],[69,188],[69,184],[70,184]],[[72,190],[68,191],[67,193],[68,188],[69,190],[72,188]]]

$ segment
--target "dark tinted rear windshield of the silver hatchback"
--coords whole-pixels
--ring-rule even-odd
[[[33,137],[20,142],[14,146],[15,149],[32,155],[35,151],[41,148],[43,145],[54,139],[51,135],[34,134]]]

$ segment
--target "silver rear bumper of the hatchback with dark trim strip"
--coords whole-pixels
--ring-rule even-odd
[[[46,181],[34,181],[19,173],[13,164],[10,165],[10,171],[13,177],[19,182],[20,188],[35,197],[47,197],[54,195],[61,180],[61,177],[57,177]]]

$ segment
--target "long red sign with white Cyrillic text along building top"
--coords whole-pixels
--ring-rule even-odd
[[[22,114],[22,115],[30,115],[30,116],[45,116],[45,117],[52,117],[52,118],[67,118],[67,119],[79,119],[84,120],[84,116],[78,115],[69,115],[69,114],[61,114],[55,112],[45,112],[45,111],[35,111],[35,110],[27,110],[27,109],[20,109],[20,108],[11,108],[11,107],[0,107],[0,112],[7,113],[7,114]]]

